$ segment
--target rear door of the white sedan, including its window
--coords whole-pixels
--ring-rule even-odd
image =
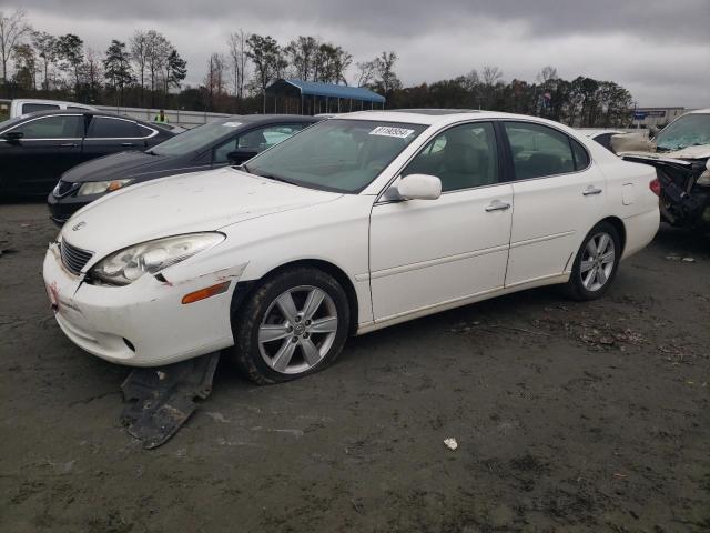
[[[581,240],[599,221],[604,174],[587,150],[561,130],[505,121],[515,210],[506,286],[542,281],[571,269]]]

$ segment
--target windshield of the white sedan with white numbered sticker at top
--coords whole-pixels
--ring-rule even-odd
[[[298,185],[356,193],[427,127],[331,119],[248,161],[248,172]]]

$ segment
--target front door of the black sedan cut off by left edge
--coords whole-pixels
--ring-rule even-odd
[[[6,193],[47,195],[63,172],[81,162],[82,114],[29,118],[8,132],[22,133],[22,138],[0,142],[0,179]]]

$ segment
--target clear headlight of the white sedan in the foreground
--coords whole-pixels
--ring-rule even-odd
[[[91,278],[110,285],[128,285],[143,274],[154,274],[223,240],[222,233],[190,233],[143,242],[99,261]]]

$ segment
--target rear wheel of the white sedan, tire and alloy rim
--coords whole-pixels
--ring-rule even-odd
[[[601,298],[617,274],[621,258],[619,232],[609,222],[595,225],[579,248],[565,292],[574,300]]]

